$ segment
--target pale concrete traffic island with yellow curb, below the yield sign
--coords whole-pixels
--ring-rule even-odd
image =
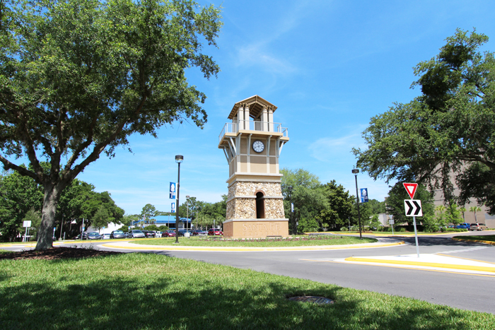
[[[495,264],[487,261],[450,257],[445,254],[404,254],[398,256],[349,257],[333,259],[346,264],[368,264],[431,271],[448,271],[452,273],[472,273],[495,276]]]

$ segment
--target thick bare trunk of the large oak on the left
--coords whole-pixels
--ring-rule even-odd
[[[55,226],[55,213],[57,212],[57,204],[59,204],[60,191],[62,189],[59,184],[50,184],[45,187],[41,225],[37,235],[37,251],[53,247],[53,228]]]

